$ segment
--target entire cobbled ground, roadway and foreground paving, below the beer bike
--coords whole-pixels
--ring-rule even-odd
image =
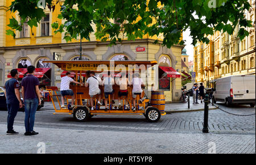
[[[217,105],[238,115],[255,113],[247,105]],[[204,134],[204,111],[171,113],[156,123],[146,122],[143,115],[101,115],[76,122],[72,115],[52,112],[46,107],[38,111],[35,130],[39,135],[26,137],[24,113],[15,119],[19,135],[6,136],[7,112],[0,111],[0,153],[36,153],[38,142],[46,143],[46,153],[255,153],[255,115],[210,110],[210,133]]]

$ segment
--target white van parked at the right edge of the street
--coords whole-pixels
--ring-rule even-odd
[[[255,106],[255,75],[233,75],[219,78],[213,92],[213,101],[226,105],[250,104]]]

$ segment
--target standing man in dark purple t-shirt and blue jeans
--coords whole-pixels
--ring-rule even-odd
[[[28,74],[22,79],[22,96],[25,104],[25,136],[38,134],[34,131],[35,113],[41,104],[39,79],[34,76],[35,66],[27,67]]]

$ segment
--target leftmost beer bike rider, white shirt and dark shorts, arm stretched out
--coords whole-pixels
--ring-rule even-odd
[[[84,83],[74,81],[71,78],[70,72],[67,72],[66,76],[61,78],[61,82],[60,82],[60,94],[61,94],[61,102],[62,102],[61,108],[65,108],[64,100],[65,100],[65,96],[68,96],[68,95],[72,96],[71,107],[73,108],[75,106],[74,105],[74,100],[75,100],[74,92],[73,92],[73,90],[69,89],[69,84],[71,82],[76,83],[76,84],[84,84]]]

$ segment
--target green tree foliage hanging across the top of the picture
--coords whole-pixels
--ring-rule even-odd
[[[52,11],[56,5],[61,5],[58,18],[61,22],[52,23],[55,33],[64,32],[64,39],[71,41],[81,35],[90,40],[92,24],[96,25],[97,39],[110,44],[123,40],[121,32],[127,40],[135,40],[143,35],[158,36],[163,34],[163,45],[170,48],[174,44],[184,44],[180,41],[183,31],[190,29],[193,45],[203,41],[208,43],[207,35],[213,35],[214,30],[228,32],[231,35],[237,24],[240,24],[238,37],[242,40],[249,35],[246,27],[251,27],[251,21],[244,14],[250,9],[247,0],[45,0]],[[22,24],[28,18],[28,25],[37,27],[44,10],[38,7],[42,0],[14,0],[10,11],[19,12],[21,22],[10,19],[8,35],[15,37],[15,30],[21,31]],[[77,7],[74,7],[77,6]],[[115,22],[113,22],[115,20]],[[157,41],[155,41],[156,43]]]

